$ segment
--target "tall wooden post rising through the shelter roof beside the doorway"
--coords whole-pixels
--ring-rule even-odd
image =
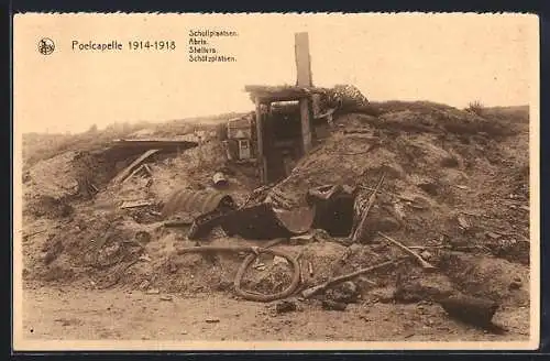
[[[296,77],[297,86],[311,87],[311,59],[309,57],[309,36],[308,33],[295,34],[295,53],[296,53]],[[299,100],[300,119],[301,119],[301,138],[304,153],[308,153],[311,149],[311,117],[310,102],[308,98]]]

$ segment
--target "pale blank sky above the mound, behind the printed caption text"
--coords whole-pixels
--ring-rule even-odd
[[[233,63],[189,62],[190,30]],[[245,85],[296,81],[294,34],[309,33],[316,86],[353,84],[370,100],[464,108],[527,105],[538,68],[538,20],[519,14],[18,14],[14,127],[80,132],[113,122],[162,122],[253,109]],[[37,51],[42,37],[55,51]],[[128,50],[129,41],[176,50]],[[117,52],[73,42],[118,41]]]

